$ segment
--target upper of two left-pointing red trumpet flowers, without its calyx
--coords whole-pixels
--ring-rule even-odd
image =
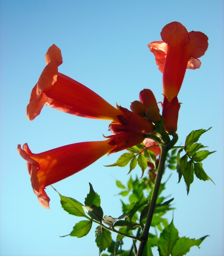
[[[43,105],[81,117],[117,121],[122,112],[83,84],[58,72],[61,50],[52,45],[46,55],[46,67],[31,92],[27,117],[35,119]]]

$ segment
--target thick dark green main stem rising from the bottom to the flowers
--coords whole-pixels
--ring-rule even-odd
[[[166,156],[169,151],[169,148],[170,148],[169,146],[161,146],[161,155],[160,155],[158,173],[156,175],[156,182],[155,182],[154,189],[153,189],[152,199],[151,199],[151,202],[149,205],[149,211],[148,211],[148,216],[146,219],[146,224],[144,226],[143,233],[141,234],[141,239],[143,241],[139,242],[137,256],[143,255],[144,246],[145,246],[146,242],[148,241],[149,228],[151,226],[151,222],[153,219],[153,213],[154,213],[155,206],[156,206],[156,200],[157,200],[157,197],[159,194],[159,187],[160,187],[161,180],[163,177],[164,166],[166,163]]]

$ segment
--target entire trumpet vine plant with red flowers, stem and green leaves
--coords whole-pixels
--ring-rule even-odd
[[[120,216],[103,214],[100,196],[91,184],[83,202],[58,193],[62,208],[81,219],[68,236],[86,236],[96,224],[95,241],[101,256],[152,256],[154,246],[160,256],[182,256],[206,238],[180,237],[174,219],[168,223],[164,217],[166,212],[173,211],[174,198],[168,199],[161,193],[166,187],[166,182],[162,182],[165,169],[176,169],[179,181],[183,176],[187,194],[194,177],[211,180],[202,161],[213,152],[204,150],[199,143],[201,135],[210,128],[192,131],[183,146],[175,146],[181,107],[178,93],[186,69],[201,66],[198,58],[205,54],[208,38],[202,32],[187,32],[179,22],[167,24],[161,38],[162,41],[154,41],[148,47],[163,73],[162,111],[151,89],[141,90],[139,100],[131,103],[130,110],[112,106],[85,85],[58,72],[63,60],[61,50],[54,44],[45,55],[46,67],[32,89],[27,106],[29,120],[40,115],[44,105],[72,115],[110,120],[111,135],[104,136],[102,141],[79,142],[38,154],[32,153],[27,143],[23,147],[18,145],[20,156],[27,161],[33,191],[46,209],[50,209],[46,186],[83,170],[105,154],[126,150],[108,167],[129,165],[129,173],[137,165],[141,169],[141,177],[129,174],[126,185],[116,181],[121,189],[119,194],[128,196],[128,203],[121,200]],[[117,234],[116,240],[111,233]],[[124,237],[132,241],[129,250],[123,249]]]

